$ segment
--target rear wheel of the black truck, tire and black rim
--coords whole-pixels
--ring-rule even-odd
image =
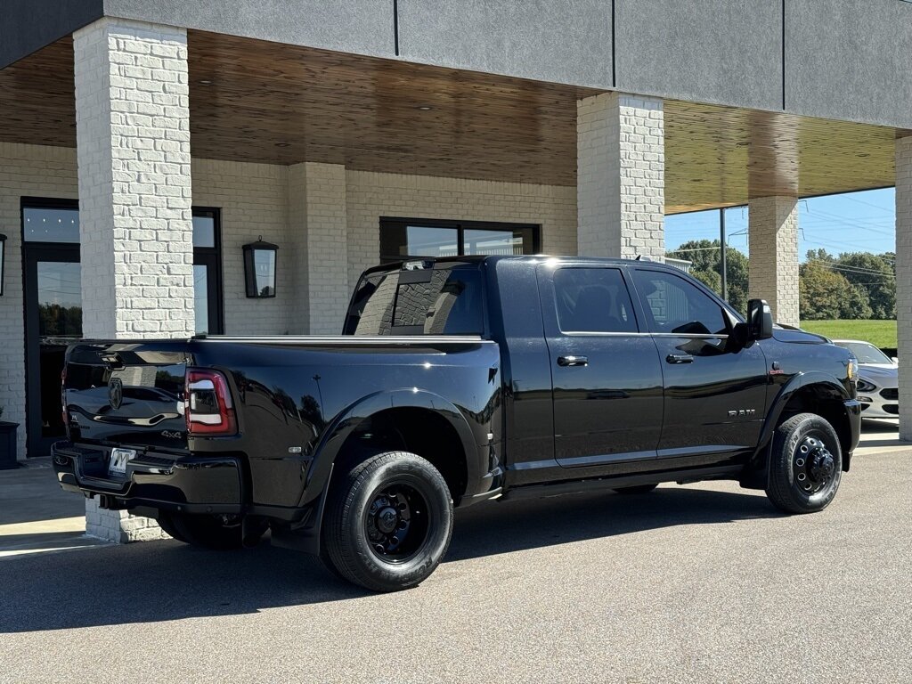
[[[408,451],[371,456],[330,491],[326,556],[349,582],[389,592],[419,585],[450,546],[453,506],[440,472]]]

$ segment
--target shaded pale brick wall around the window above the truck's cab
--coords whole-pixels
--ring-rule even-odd
[[[545,254],[576,254],[572,186],[351,170],[346,178],[349,289],[362,271],[378,264],[380,216],[540,223]],[[344,310],[345,305],[340,316]]]

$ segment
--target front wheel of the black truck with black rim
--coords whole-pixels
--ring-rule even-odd
[[[766,495],[785,513],[823,511],[843,473],[839,437],[814,413],[799,413],[776,428]]]

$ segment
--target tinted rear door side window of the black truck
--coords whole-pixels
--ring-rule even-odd
[[[558,269],[554,304],[562,332],[637,332],[627,285],[617,268]]]

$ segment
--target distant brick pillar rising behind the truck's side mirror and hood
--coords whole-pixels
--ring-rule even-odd
[[[748,210],[751,259],[748,293],[765,299],[776,323],[799,324],[798,316],[798,200],[760,197]]]

